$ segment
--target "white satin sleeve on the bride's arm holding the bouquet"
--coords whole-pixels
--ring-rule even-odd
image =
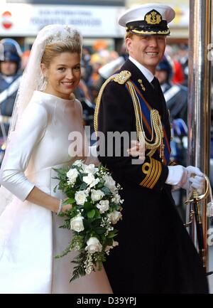
[[[0,184],[24,201],[35,186],[24,171],[35,146],[45,134],[48,112],[43,105],[30,102],[23,112],[21,127],[14,134],[1,166]]]

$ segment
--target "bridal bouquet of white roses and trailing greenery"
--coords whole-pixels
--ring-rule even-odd
[[[60,216],[65,216],[65,223],[60,228],[72,230],[72,240],[61,255],[71,250],[79,254],[72,260],[75,267],[71,280],[84,276],[92,270],[101,270],[102,262],[109,255],[109,250],[118,245],[114,240],[118,231],[114,225],[121,219],[121,200],[119,190],[104,166],[85,165],[75,161],[66,169],[58,172],[58,187],[67,195],[63,204],[72,204],[72,208]]]

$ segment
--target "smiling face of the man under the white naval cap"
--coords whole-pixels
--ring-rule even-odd
[[[155,74],[155,68],[163,58],[165,36],[136,36],[126,38],[126,48],[132,58]]]

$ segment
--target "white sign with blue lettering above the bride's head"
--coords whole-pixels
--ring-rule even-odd
[[[72,24],[84,37],[121,38],[125,29],[117,20],[121,6],[3,4],[0,36],[36,36],[48,24]]]

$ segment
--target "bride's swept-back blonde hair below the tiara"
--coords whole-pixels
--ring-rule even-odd
[[[45,51],[41,58],[41,63],[49,68],[51,60],[60,53],[82,53],[82,43],[80,40],[60,41],[57,43],[50,43],[45,47]]]

